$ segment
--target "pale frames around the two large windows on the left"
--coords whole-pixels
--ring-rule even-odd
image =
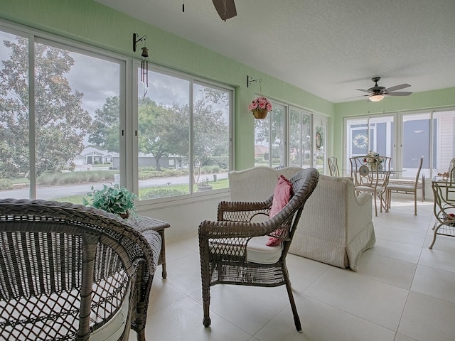
[[[21,26],[18,23],[10,23],[9,21],[4,21],[0,19],[0,30],[5,33],[9,33],[14,36],[21,36],[28,39],[28,95],[29,95],[29,108],[28,114],[30,119],[34,119],[34,45],[35,43],[43,43],[45,45],[51,45],[56,48],[63,48],[70,52],[80,53],[83,55],[88,55],[93,58],[98,58],[102,60],[108,60],[110,62],[119,64],[119,172],[120,172],[120,185],[129,188],[134,191],[134,193],[139,193],[139,179],[137,175],[137,157],[138,157],[138,145],[137,145],[137,129],[138,129],[138,113],[137,113],[137,65],[140,67],[140,59],[132,58],[127,55],[122,55],[120,53],[112,52],[111,50],[97,48],[86,43],[82,43],[78,40],[73,40],[70,38],[65,38],[63,36],[58,36],[52,33],[45,33],[44,31],[39,31],[34,28],[28,28],[26,26]],[[30,65],[32,67],[30,67]],[[31,72],[31,70],[33,70]],[[235,160],[235,149],[234,149],[234,119],[235,119],[235,87],[226,85],[220,82],[215,82],[208,80],[203,77],[197,77],[196,75],[191,75],[186,72],[181,72],[173,70],[171,68],[162,67],[160,65],[154,65],[149,63],[149,70],[154,70],[156,72],[168,72],[174,77],[185,77],[188,80],[191,80],[191,85],[196,83],[198,85],[207,85],[209,87],[219,88],[223,91],[230,92],[229,99],[229,170],[234,169],[234,160]],[[191,86],[191,102],[193,101],[193,87]],[[134,90],[136,89],[136,90]],[[35,126],[34,121],[29,125],[29,129],[33,131]],[[34,138],[34,134],[31,134]],[[34,167],[34,151],[33,144],[29,146],[29,152],[33,153],[33,158],[29,158],[30,171],[35,174]],[[191,168],[191,172],[193,169]],[[190,178],[191,181],[192,177]],[[228,188],[223,188],[220,190],[210,190],[205,193],[196,193],[191,191],[189,195],[176,196],[176,197],[164,197],[157,198],[153,200],[141,200],[137,202],[138,210],[141,207],[150,205],[151,203],[164,203],[166,202],[175,202],[176,200],[181,200],[181,202],[186,202],[186,200],[193,200],[195,197],[203,197],[207,195],[225,195],[228,193]],[[30,180],[30,191],[29,197],[31,199],[36,198],[36,178],[33,175]],[[172,204],[174,205],[174,204]]]

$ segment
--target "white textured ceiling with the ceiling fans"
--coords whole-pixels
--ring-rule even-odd
[[[455,87],[454,0],[235,0],[228,21],[210,0],[97,2],[331,102],[363,99],[355,89],[375,76],[410,92]]]

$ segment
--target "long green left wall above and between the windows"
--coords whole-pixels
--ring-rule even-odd
[[[262,79],[264,96],[325,114],[329,117],[329,126],[331,124],[333,103],[94,1],[0,0],[0,9],[0,18],[8,21],[133,58],[140,55],[133,53],[132,33],[147,35],[152,63],[235,87],[236,169],[251,167],[254,163],[254,119],[247,107],[259,88],[254,85],[247,88],[247,75]],[[331,130],[328,136],[330,134]]]

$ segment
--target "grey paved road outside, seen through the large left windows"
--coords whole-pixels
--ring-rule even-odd
[[[213,175],[207,175],[209,180],[213,180]],[[205,179],[205,175],[201,176]],[[217,174],[218,179],[228,178],[228,173]],[[188,176],[178,176],[169,178],[157,178],[150,180],[139,180],[139,187],[154,187],[163,184],[182,184],[188,183]],[[92,185],[94,188],[102,188],[102,183],[92,184],[86,183],[82,185],[68,185],[68,186],[56,186],[56,187],[42,187],[36,189],[36,197],[40,199],[50,200],[58,197],[70,197],[72,195],[87,195],[90,192]],[[23,188],[18,190],[0,190],[0,197],[16,197],[26,198],[29,197],[29,189]]]

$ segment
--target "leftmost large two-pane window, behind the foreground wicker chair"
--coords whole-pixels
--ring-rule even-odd
[[[25,33],[0,39],[0,195],[81,203],[119,173],[123,62]]]

